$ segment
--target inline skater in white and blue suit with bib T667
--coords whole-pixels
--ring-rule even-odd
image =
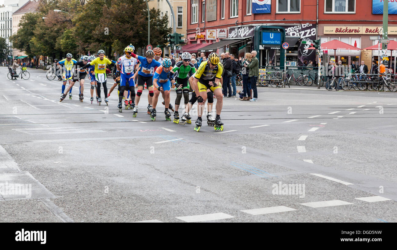
[[[124,49],[125,55],[121,56],[116,63],[117,70],[121,72],[120,75],[120,91],[119,91],[119,112],[121,112],[123,96],[126,94],[125,90],[129,90],[131,100],[134,98],[134,101],[131,101],[131,106],[135,106],[135,83],[133,78],[133,72],[135,66],[137,65],[137,59],[131,57],[131,53],[133,53],[133,49],[129,46]],[[129,106],[128,97],[125,98],[125,109],[128,109]]]

